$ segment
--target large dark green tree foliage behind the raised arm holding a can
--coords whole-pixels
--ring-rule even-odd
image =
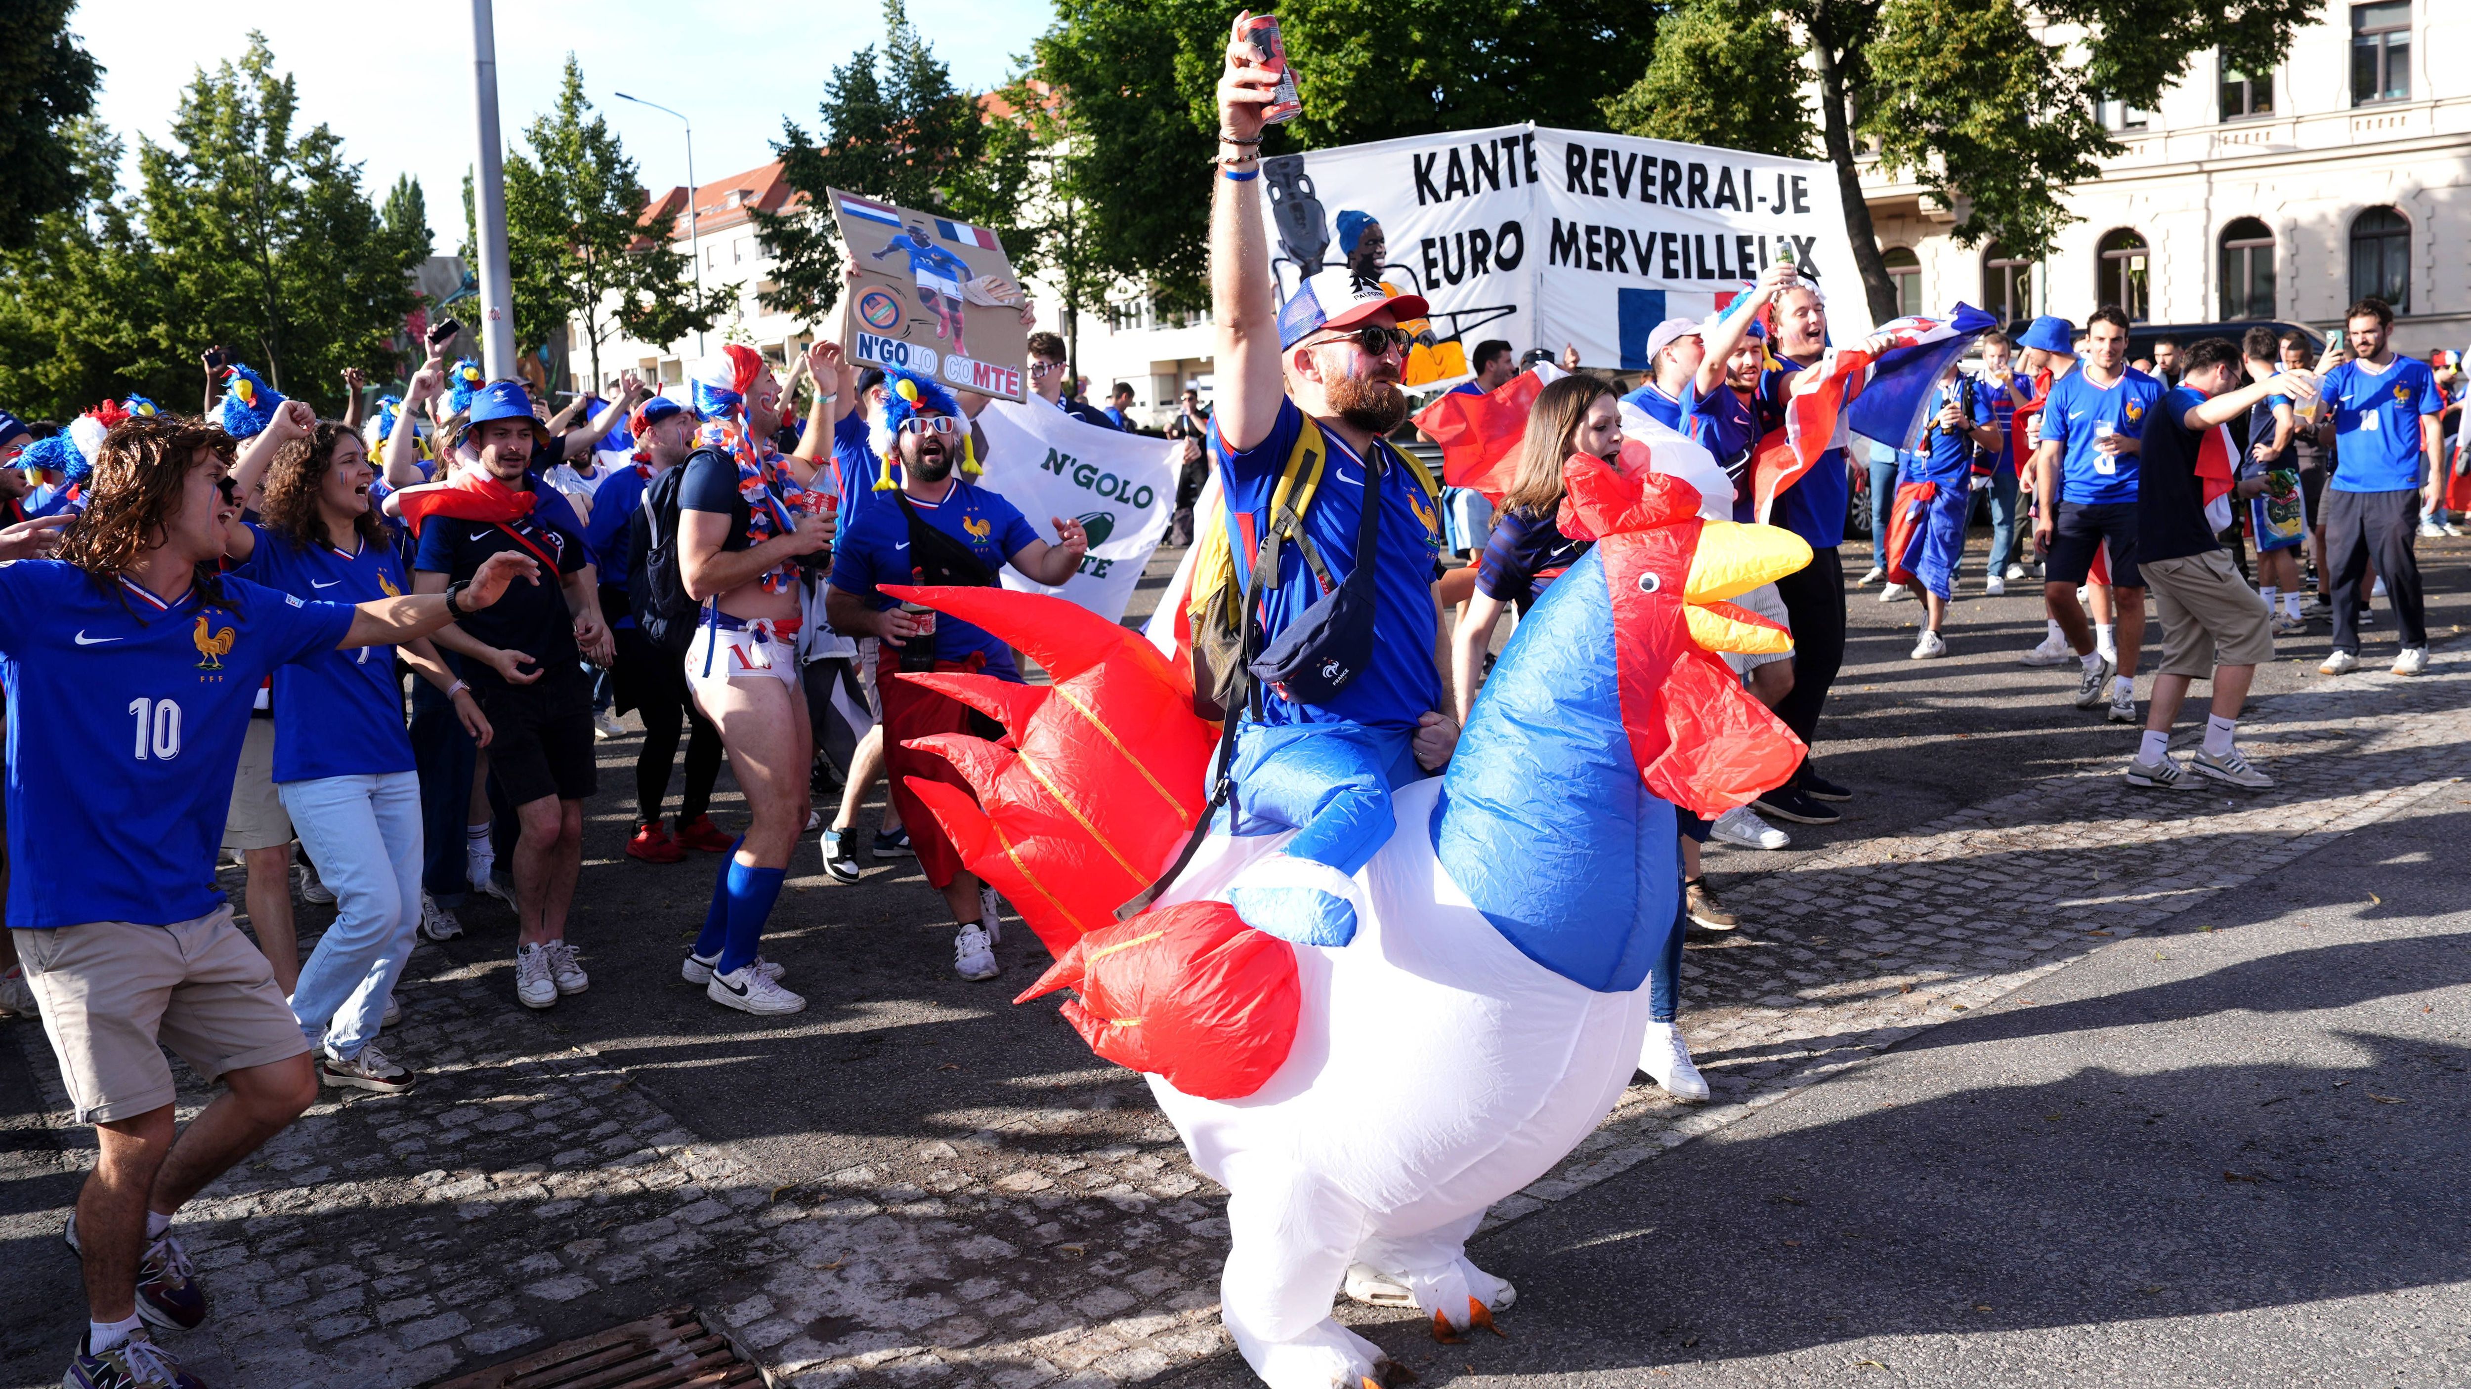
[[[1082,0],[1038,37],[1067,94],[1063,185],[1087,255],[1169,309],[1203,294],[1218,72],[1238,2]],[[1539,121],[1596,126],[1648,64],[1661,5],[1636,0],[1285,0],[1305,114],[1265,153]]]

